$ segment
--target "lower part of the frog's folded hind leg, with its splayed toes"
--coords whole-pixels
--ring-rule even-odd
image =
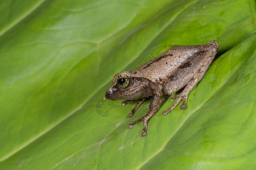
[[[206,73],[206,71],[208,70],[211,62],[212,61],[207,62],[205,65],[203,65],[203,67],[201,67],[201,69],[199,69],[199,71],[197,71],[197,73],[188,82],[187,86],[184,88],[184,90],[180,94],[171,97],[171,101],[173,101],[174,99],[177,98],[175,104],[172,105],[171,108],[169,108],[166,111],[164,111],[162,114],[167,114],[168,112],[172,111],[180,103],[181,100],[183,100],[183,102],[182,102],[182,104],[180,106],[180,109],[181,110],[185,109],[185,103],[187,103],[187,98],[188,98],[189,92],[203,78],[203,76]]]

